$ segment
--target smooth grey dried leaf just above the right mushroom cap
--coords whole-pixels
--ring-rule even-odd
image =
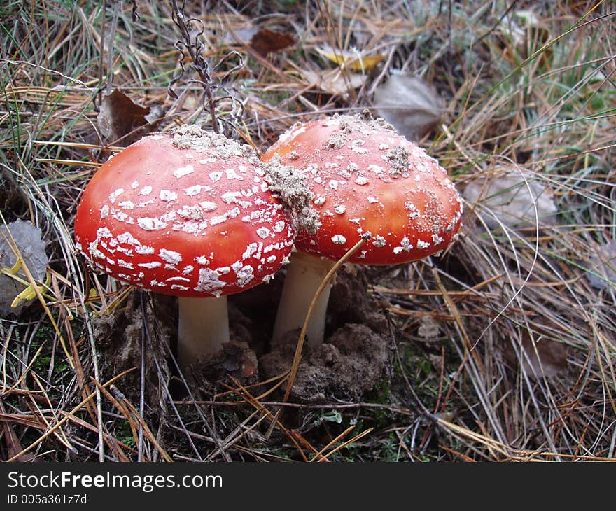
[[[380,117],[407,139],[417,141],[433,130],[444,113],[440,97],[416,76],[395,73],[374,90]]]

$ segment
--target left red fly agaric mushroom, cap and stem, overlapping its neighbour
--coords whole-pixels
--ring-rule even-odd
[[[98,169],[77,248],[107,274],[179,297],[181,367],[229,340],[227,296],[288,262],[294,230],[249,146],[196,126],[153,134]]]

